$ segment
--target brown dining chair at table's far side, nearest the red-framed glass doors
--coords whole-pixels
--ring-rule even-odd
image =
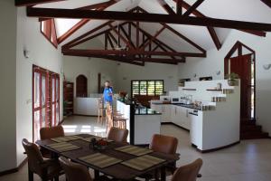
[[[50,138],[58,138],[58,137],[64,137],[64,129],[63,127],[56,126],[56,127],[48,127],[48,128],[42,128],[40,129],[40,137],[42,140],[44,139],[50,139]],[[51,158],[51,152],[47,149],[41,148],[42,157]]]

